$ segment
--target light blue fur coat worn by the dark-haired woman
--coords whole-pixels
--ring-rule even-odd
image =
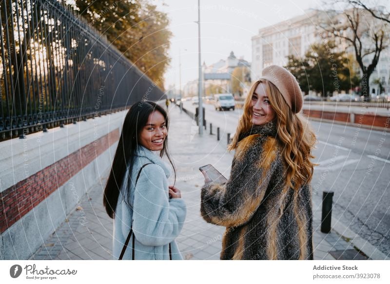
[[[138,178],[142,165],[146,165]],[[181,198],[169,199],[168,178],[171,168],[162,159],[143,146],[138,146],[131,175],[131,206],[125,201],[128,172],[119,194],[114,219],[114,259],[118,259],[133,223],[136,236],[135,260],[169,260],[169,243],[172,259],[182,256],[175,238],[179,235],[186,217],[186,205]],[[125,198],[123,198],[125,197]],[[125,200],[125,201],[124,201]],[[123,260],[132,259],[132,241],[127,245]]]

